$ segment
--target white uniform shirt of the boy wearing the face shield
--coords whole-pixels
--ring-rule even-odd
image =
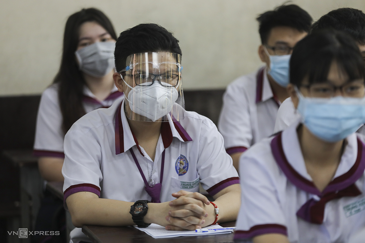
[[[165,150],[161,202],[173,200],[171,194],[180,190],[199,192],[199,181],[212,196],[239,183],[216,126],[192,111],[185,111],[182,121],[162,122],[155,158],[150,158],[135,140],[124,113],[124,101],[80,118],[66,134],[64,148],[65,200],[80,191],[128,202],[151,200],[130,149],[145,178],[149,180],[152,173],[155,183],[160,182]],[[80,233],[81,229],[76,228],[71,234],[74,242],[81,239],[77,238]]]

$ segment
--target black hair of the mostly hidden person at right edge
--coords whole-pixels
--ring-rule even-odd
[[[346,32],[360,45],[365,45],[365,13],[355,8],[338,8],[317,20],[313,30],[332,28]]]

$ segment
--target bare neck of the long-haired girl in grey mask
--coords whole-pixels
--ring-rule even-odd
[[[84,73],[86,85],[99,101],[103,101],[110,95],[114,87],[113,81],[114,70],[111,70],[104,77],[98,78]]]

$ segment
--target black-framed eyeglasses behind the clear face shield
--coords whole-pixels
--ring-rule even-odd
[[[176,87],[181,79],[181,74],[179,73],[146,74],[135,72],[134,74],[125,75],[132,76],[135,84],[138,86],[151,86],[158,77],[158,82],[160,82],[162,86]]]

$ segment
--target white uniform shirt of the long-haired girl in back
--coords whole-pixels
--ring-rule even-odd
[[[123,98],[114,86],[111,94],[104,101],[98,101],[85,86],[82,105],[86,113],[100,107],[110,107],[114,101]],[[51,85],[42,94],[39,103],[37,126],[34,141],[34,155],[64,158],[64,132],[62,130],[62,113],[58,101],[58,84]]]

